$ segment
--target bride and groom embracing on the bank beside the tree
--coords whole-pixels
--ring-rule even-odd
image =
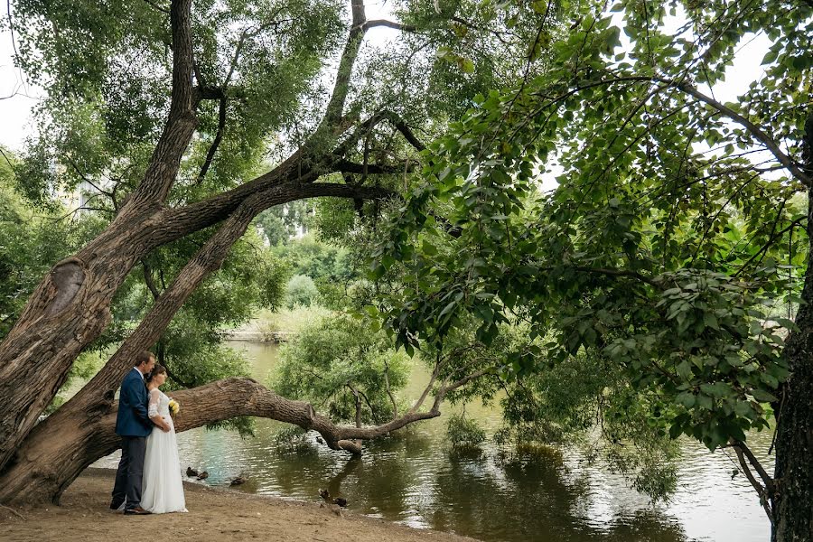
[[[116,418],[121,461],[110,509],[128,515],[186,511],[170,398],[158,389],[164,381],[166,369],[145,351],[121,383]]]

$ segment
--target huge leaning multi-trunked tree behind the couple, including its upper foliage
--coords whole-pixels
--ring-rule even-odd
[[[10,6],[16,61],[48,93],[41,139],[17,172],[20,189],[44,204],[42,193],[84,182],[111,219],[51,268],[0,344],[6,503],[58,502],[79,472],[116,449],[115,392],[135,353],[159,340],[259,212],[307,198],[390,197],[423,148],[416,128],[431,136],[474,91],[527,72],[514,53],[553,26],[534,12],[481,13],[477,4],[405,10],[405,23],[369,20],[361,0],[349,14],[320,0]],[[382,28],[400,37],[371,45],[368,33]],[[276,165],[261,173],[267,156]],[[144,320],[41,420],[71,364],[110,322],[128,274],[194,233],[205,241]],[[445,382],[429,410],[416,405],[385,425],[346,427],[253,380],[229,378],[178,392],[185,407],[177,427],[267,416],[359,452],[359,439],[437,416],[445,391],[468,381]]]

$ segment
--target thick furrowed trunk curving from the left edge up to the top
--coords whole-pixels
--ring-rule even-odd
[[[196,124],[191,6],[192,0],[173,0],[171,5],[170,112],[144,180],[98,238],[51,269],[0,344],[0,471],[64,383],[79,352],[107,326],[113,294],[152,248],[154,217],[175,181]]]

